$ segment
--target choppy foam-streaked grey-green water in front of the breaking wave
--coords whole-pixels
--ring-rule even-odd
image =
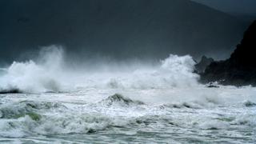
[[[192,91],[1,94],[0,142],[256,142],[256,89]]]

